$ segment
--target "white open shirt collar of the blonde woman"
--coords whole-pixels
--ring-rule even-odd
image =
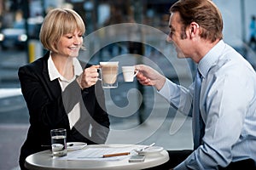
[[[73,70],[74,75],[79,76],[83,72],[83,68],[79,63],[79,59],[73,58]],[[53,81],[57,78],[60,78],[61,80],[66,80],[64,77],[61,76],[59,71],[56,69],[55,64],[52,60],[51,54],[49,54],[48,59],[48,72],[49,72],[49,80]]]

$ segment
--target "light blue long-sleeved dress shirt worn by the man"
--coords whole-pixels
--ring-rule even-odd
[[[256,73],[223,40],[200,61],[200,111],[206,124],[203,144],[174,169],[216,169],[231,161],[256,162]],[[159,93],[189,116],[194,94],[166,79]]]

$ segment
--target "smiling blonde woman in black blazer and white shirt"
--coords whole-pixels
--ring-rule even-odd
[[[40,40],[49,52],[20,67],[22,94],[30,114],[30,127],[20,150],[20,168],[26,156],[46,150],[50,129],[66,128],[67,142],[104,143],[109,119],[99,65],[86,65],[76,57],[83,48],[84,22],[72,9],[49,11]],[[83,70],[83,68],[85,68]]]

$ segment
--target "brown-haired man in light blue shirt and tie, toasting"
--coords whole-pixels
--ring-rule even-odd
[[[154,86],[179,111],[188,116],[192,113],[195,146],[191,151],[169,151],[170,161],[156,169],[254,169],[253,67],[222,40],[222,16],[212,1],[180,0],[170,11],[167,41],[173,42],[178,58],[190,58],[198,64],[198,77],[187,89],[147,65],[136,65],[137,79],[143,85]]]

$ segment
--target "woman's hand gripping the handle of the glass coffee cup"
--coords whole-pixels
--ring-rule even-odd
[[[96,84],[99,77],[98,68],[100,65],[91,65],[84,69],[84,72],[77,78],[80,88],[89,88]]]

